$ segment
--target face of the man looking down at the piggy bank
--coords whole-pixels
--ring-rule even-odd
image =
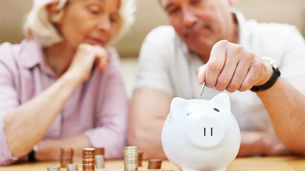
[[[189,49],[208,55],[215,43],[229,39],[233,0],[160,0],[170,24]]]

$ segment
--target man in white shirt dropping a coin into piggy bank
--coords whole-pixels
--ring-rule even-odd
[[[160,0],[170,25],[142,44],[129,119],[128,143],[145,158],[165,158],[161,131],[173,97],[221,92],[242,130],[238,156],[305,153],[304,37],[294,26],[246,20],[233,3]]]

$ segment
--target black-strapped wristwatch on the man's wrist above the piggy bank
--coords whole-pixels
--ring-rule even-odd
[[[253,86],[250,89],[251,91],[254,91],[254,92],[263,91],[263,90],[270,88],[272,85],[274,85],[274,83],[277,81],[277,79],[281,76],[281,72],[278,69],[278,66],[274,63],[274,61],[271,58],[263,56],[262,59],[264,61],[268,61],[271,64],[271,66],[273,68],[273,73],[272,73],[271,77],[269,78],[269,80],[264,85]]]

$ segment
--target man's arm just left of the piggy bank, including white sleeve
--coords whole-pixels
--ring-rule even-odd
[[[144,158],[165,158],[161,131],[172,100],[168,56],[163,38],[168,38],[164,26],[151,31],[143,41],[139,55],[139,70],[135,91],[130,101],[127,142],[138,146]],[[164,43],[165,42],[165,43]]]

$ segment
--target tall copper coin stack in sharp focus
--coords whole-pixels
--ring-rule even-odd
[[[95,148],[82,150],[82,171],[95,171]]]

